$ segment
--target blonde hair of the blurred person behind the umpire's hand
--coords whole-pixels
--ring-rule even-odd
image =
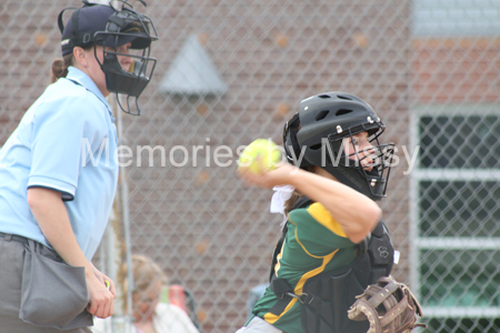
[[[134,292],[147,292],[154,283],[161,282],[164,286],[168,282],[167,275],[160,269],[160,266],[151,259],[141,254],[133,254],[132,258],[132,276],[133,276],[133,290]],[[128,265],[124,263],[121,266],[118,280],[123,287],[123,295],[127,294],[129,289],[128,279]],[[127,297],[124,297],[123,310],[127,312]]]

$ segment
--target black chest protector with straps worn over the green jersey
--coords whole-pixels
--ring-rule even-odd
[[[302,198],[296,208],[304,208],[310,203],[311,200]],[[351,264],[309,279],[301,295],[296,295],[284,279],[274,275],[277,256],[284,241],[287,225],[274,249],[270,274],[270,289],[279,301],[269,312],[280,315],[296,297],[301,303],[304,333],[366,333],[369,329],[368,322],[350,321],[347,311],[354,303],[356,296],[362,294],[369,284],[391,273],[394,250],[383,222],[380,221],[371,234],[358,244],[358,255]]]

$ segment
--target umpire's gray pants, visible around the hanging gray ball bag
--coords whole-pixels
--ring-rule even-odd
[[[19,319],[24,249],[18,241],[0,238],[0,333],[91,333],[90,329],[38,327]]]

